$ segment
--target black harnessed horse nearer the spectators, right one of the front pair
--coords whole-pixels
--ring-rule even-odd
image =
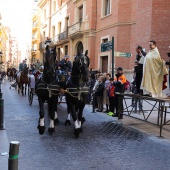
[[[83,109],[86,104],[88,87],[89,58],[78,52],[73,61],[71,77],[66,84],[66,102],[74,121],[74,134],[79,137],[82,132]]]

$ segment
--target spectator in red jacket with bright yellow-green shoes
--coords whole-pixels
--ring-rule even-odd
[[[114,115],[114,109],[115,109],[115,86],[113,84],[114,82],[114,78],[110,78],[109,79],[110,83],[107,87],[107,91],[108,91],[108,97],[109,97],[109,103],[110,103],[110,111],[108,112],[109,116],[113,116]]]

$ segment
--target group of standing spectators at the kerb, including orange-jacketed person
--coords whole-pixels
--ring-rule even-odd
[[[123,118],[123,98],[118,100],[116,92],[124,92],[126,77],[121,67],[117,68],[115,77],[110,73],[91,72],[90,94],[97,112],[107,113],[109,116]]]

